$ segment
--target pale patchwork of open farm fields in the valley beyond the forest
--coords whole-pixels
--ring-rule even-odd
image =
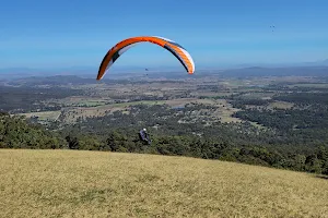
[[[312,82],[305,84],[305,82]],[[304,76],[285,76],[280,77],[268,76],[253,80],[221,80],[220,77],[208,77],[203,80],[176,80],[176,81],[143,81],[143,82],[126,82],[121,84],[87,84],[77,85],[74,89],[83,89],[87,95],[70,96],[66,98],[48,99],[45,104],[57,104],[61,110],[22,113],[27,118],[37,117],[38,121],[51,122],[60,121],[63,123],[74,123],[80,118],[103,117],[115,111],[122,111],[129,113],[129,109],[133,105],[168,105],[173,108],[185,107],[187,104],[204,104],[211,105],[214,110],[203,110],[195,112],[191,120],[210,119],[212,121],[221,122],[241,122],[241,119],[233,118],[232,114],[239,109],[234,108],[225,99],[216,99],[218,97],[230,96],[232,94],[241,94],[238,97],[250,99],[271,99],[277,92],[263,92],[260,86],[274,83],[298,83],[290,85],[290,87],[326,87],[327,84],[315,83],[312,77]],[[82,93],[83,93],[82,92]],[[163,96],[168,97],[169,100],[138,100],[139,97],[153,97],[160,99]],[[133,101],[130,101],[133,99]],[[137,99],[137,101],[134,101]],[[147,99],[147,98],[145,98]],[[152,99],[152,98],[151,98]],[[167,98],[166,98],[167,99]],[[130,102],[125,102],[130,101]],[[268,106],[245,105],[246,108],[257,109],[291,109],[294,105],[286,101],[274,101]],[[202,116],[201,113],[206,113]],[[187,118],[189,119],[189,118]],[[185,122],[181,120],[181,122]],[[206,121],[207,122],[207,121]],[[209,123],[208,123],[209,124]],[[253,123],[256,126],[256,123]]]

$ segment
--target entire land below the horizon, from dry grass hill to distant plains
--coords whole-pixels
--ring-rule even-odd
[[[3,77],[0,216],[325,217],[327,69]]]

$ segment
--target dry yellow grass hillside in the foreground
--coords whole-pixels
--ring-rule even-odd
[[[0,149],[0,217],[328,217],[325,178],[219,160]]]

